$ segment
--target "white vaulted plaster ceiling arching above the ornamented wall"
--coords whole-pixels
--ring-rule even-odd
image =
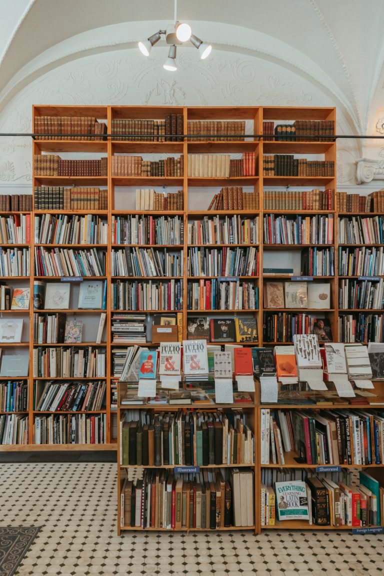
[[[0,7],[0,109],[55,67],[132,47],[173,19],[173,0],[0,0]],[[216,50],[270,60],[321,86],[355,134],[374,128],[383,107],[383,0],[178,0],[178,18]]]

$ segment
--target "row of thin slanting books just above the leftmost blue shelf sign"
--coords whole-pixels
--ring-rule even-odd
[[[36,276],[105,276],[105,252],[35,246]]]

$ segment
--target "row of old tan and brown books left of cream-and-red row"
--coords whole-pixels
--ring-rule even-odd
[[[141,156],[112,156],[112,176],[184,176],[184,156],[151,162]]]

